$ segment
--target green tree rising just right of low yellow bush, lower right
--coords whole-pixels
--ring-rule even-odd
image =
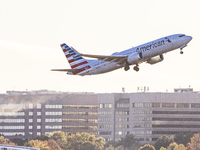
[[[169,144],[174,142],[174,137],[168,137],[166,135],[162,135],[161,137],[158,138],[158,140],[155,143],[155,149],[159,150],[161,147],[167,148]]]

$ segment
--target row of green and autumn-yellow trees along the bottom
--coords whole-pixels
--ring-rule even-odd
[[[52,135],[41,135],[33,140],[5,139],[0,136],[0,144],[18,145],[41,150],[200,150],[200,133],[178,133],[174,137],[162,135],[154,145],[139,145],[133,134],[127,134],[120,141],[109,141],[105,144],[102,137],[89,133],[53,132]]]

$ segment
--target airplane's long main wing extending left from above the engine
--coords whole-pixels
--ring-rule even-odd
[[[117,63],[122,63],[127,59],[127,56],[125,55],[91,55],[91,54],[80,54],[80,56],[85,56],[89,58],[96,58],[102,61],[109,61],[109,62],[117,62]]]

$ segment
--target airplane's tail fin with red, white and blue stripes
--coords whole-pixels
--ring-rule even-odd
[[[73,72],[73,74],[79,74],[82,71],[85,71],[87,69],[90,69],[91,66],[89,65],[88,61],[84,59],[82,56],[77,54],[71,47],[69,47],[67,44],[63,43],[60,45],[65,57],[67,58],[70,66],[72,69],[77,69],[77,71]]]

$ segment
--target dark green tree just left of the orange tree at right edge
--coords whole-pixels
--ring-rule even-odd
[[[190,132],[179,132],[175,135],[174,141],[178,144],[184,144],[185,146],[190,142],[193,137],[193,133]]]

